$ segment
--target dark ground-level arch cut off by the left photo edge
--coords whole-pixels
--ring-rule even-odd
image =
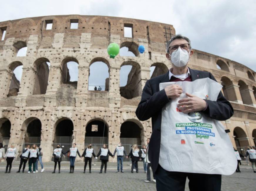
[[[9,144],[11,137],[11,122],[7,118],[0,118],[0,142],[3,143],[5,149]]]

